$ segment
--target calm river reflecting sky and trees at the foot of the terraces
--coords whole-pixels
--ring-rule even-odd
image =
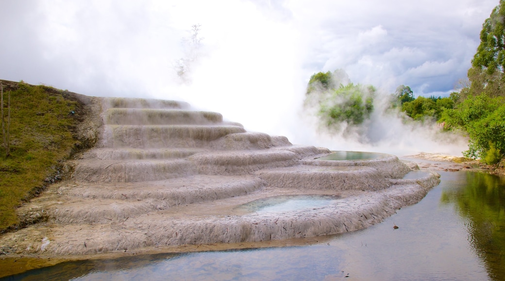
[[[505,280],[505,179],[440,174],[421,202],[314,245],[72,261],[6,279]]]

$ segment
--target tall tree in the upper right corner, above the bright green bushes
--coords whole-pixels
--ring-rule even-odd
[[[470,94],[505,96],[505,0],[500,0],[482,24],[480,45],[468,71]]]

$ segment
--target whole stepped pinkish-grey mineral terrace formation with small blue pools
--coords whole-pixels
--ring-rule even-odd
[[[406,177],[411,168],[395,156],[331,160],[328,149],[247,132],[184,102],[86,99],[95,108],[88,133],[96,145],[19,209],[39,223],[4,235],[0,242],[13,252],[82,255],[336,234],[379,223],[439,183],[433,173]]]

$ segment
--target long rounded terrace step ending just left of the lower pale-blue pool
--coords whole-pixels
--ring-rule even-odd
[[[260,190],[255,176],[194,175],[161,181],[76,183],[65,192],[67,203],[52,208],[62,224],[107,224],[177,205],[241,196]]]

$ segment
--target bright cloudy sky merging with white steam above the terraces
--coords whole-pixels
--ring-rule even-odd
[[[435,136],[416,143],[423,134],[364,147],[323,136],[302,117],[307,82],[344,69],[384,95],[399,85],[416,96],[448,95],[466,78],[498,2],[0,0],[0,79],[88,96],[183,100],[250,131],[333,150],[458,154],[464,144],[450,137],[441,147]],[[193,25],[198,46],[188,43]],[[181,58],[191,58],[184,80]],[[422,130],[382,121],[375,130],[398,126],[384,139]]]

